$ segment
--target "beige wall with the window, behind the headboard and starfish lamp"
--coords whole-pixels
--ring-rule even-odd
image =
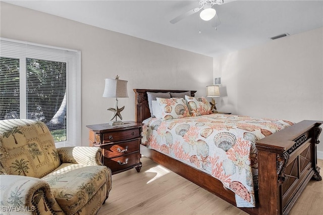
[[[128,80],[123,120],[134,120],[133,88],[188,89],[206,93],[212,58],[1,2],[0,36],[82,52],[82,145],[86,125],[106,123],[115,98],[103,98],[104,79]]]

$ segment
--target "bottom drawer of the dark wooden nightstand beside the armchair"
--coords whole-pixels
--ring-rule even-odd
[[[115,158],[103,157],[103,164],[109,167],[112,172],[121,171],[132,166],[137,166],[140,162],[141,154],[139,152],[127,154]]]

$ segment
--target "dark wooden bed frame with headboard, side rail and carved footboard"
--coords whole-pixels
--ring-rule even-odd
[[[183,93],[187,90],[134,89],[136,122],[150,118],[147,92]],[[196,91],[190,91],[194,97]],[[219,115],[221,116],[221,115]],[[219,119],[227,121],[227,116]],[[232,116],[231,118],[235,118]],[[282,123],[282,122],[279,122]],[[287,122],[288,123],[288,122]],[[323,122],[304,120],[255,141],[257,149],[257,183],[253,207],[240,207],[249,214],[288,214],[310,179],[321,180],[316,162],[316,144]],[[265,129],[263,129],[265,131]],[[215,137],[214,137],[215,138]],[[214,139],[215,142],[215,139]],[[237,206],[237,194],[224,183],[195,167],[164,153],[149,149],[143,139],[144,156],[192,181],[209,192]]]

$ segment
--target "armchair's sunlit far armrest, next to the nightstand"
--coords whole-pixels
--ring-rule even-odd
[[[58,148],[61,163],[102,166],[102,150],[99,147],[74,146]]]

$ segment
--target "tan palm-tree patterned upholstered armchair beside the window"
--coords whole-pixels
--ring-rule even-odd
[[[56,148],[45,124],[20,119],[0,121],[0,143],[2,212],[96,214],[107,199],[100,148]]]

